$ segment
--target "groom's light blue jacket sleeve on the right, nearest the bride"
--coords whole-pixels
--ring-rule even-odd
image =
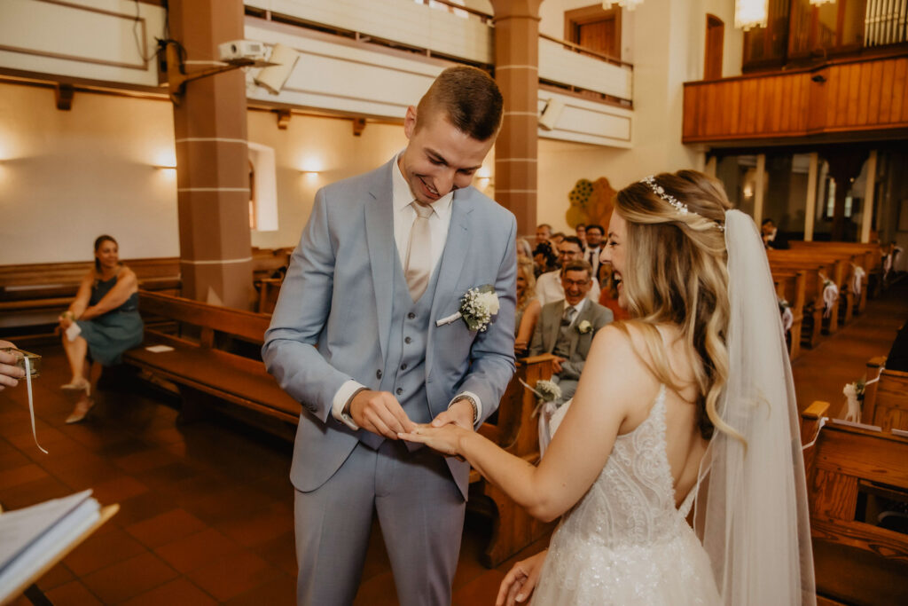
[[[479,333],[470,350],[469,373],[457,392],[472,392],[482,402],[477,425],[498,410],[498,403],[515,370],[514,311],[517,305],[517,221],[510,216],[508,246],[498,263],[495,292],[498,293],[498,317],[485,333]]]

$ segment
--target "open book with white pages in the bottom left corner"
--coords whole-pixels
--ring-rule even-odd
[[[91,490],[0,514],[0,604],[25,590],[100,521]]]

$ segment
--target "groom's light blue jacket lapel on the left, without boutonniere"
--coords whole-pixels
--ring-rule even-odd
[[[365,204],[366,243],[369,246],[369,264],[372,270],[372,289],[375,292],[375,309],[379,319],[381,355],[388,352],[391,329],[391,298],[394,283],[394,208],[391,189],[391,171],[394,161],[386,164],[388,170],[380,172],[380,180],[370,188],[372,199]]]

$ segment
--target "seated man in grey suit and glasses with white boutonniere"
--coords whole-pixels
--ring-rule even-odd
[[[542,306],[529,345],[529,355],[552,353],[552,380],[561,388],[561,402],[573,397],[597,331],[612,321],[610,309],[587,299],[593,268],[586,261],[569,261],[561,268],[565,298]]]

